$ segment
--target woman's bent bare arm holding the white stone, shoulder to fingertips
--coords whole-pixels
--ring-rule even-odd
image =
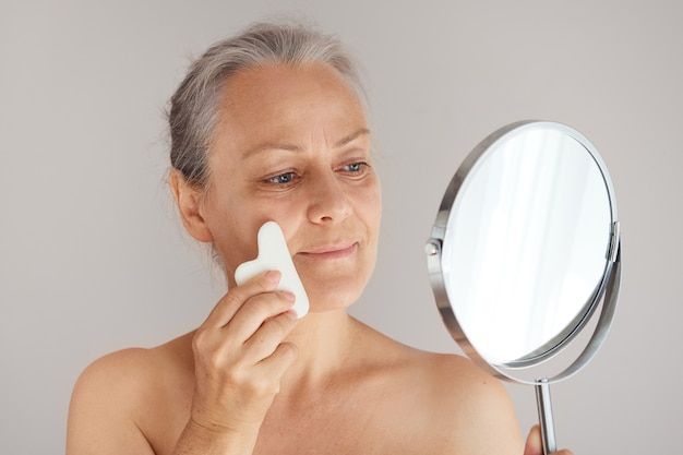
[[[253,452],[296,356],[296,347],[284,343],[296,323],[293,302],[274,291],[278,279],[268,273],[230,290],[196,331],[190,417],[175,455]],[[69,411],[67,455],[155,454],[141,422],[168,416],[154,409],[158,374],[145,352],[115,352],[84,371]]]

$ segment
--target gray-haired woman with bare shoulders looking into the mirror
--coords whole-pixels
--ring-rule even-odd
[[[91,364],[69,416],[80,454],[522,454],[504,387],[468,360],[392,340],[346,309],[375,263],[380,182],[362,89],[339,44],[255,25],[218,43],[171,99],[170,185],[228,292],[194,332]],[[265,272],[277,221],[309,296]],[[534,429],[526,453],[540,453]]]

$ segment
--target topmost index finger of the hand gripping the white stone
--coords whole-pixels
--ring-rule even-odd
[[[249,298],[275,290],[280,278],[281,274],[278,271],[268,271],[247,280],[241,286],[229,289],[218,300],[218,303],[216,303],[202,325],[207,327],[223,327],[227,325]]]

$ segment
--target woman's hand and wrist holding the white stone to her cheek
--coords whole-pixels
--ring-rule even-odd
[[[297,322],[295,296],[275,290],[280,276],[271,271],[231,288],[197,328],[191,424],[255,442],[297,356],[297,347],[285,342]]]

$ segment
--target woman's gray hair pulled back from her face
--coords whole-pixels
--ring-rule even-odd
[[[367,106],[356,62],[342,43],[301,24],[259,23],[218,41],[195,60],[173,96],[168,115],[171,166],[188,182],[205,188],[208,151],[226,94],[225,82],[236,73],[271,64],[323,62],[336,69]]]

